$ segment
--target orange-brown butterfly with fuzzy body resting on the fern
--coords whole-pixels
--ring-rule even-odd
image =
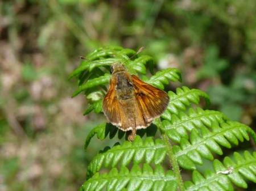
[[[147,128],[167,108],[166,92],[131,75],[122,63],[113,63],[109,90],[102,108],[110,123],[123,131],[131,131],[133,141],[137,129]]]

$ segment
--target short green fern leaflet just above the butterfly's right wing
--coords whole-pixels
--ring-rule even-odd
[[[175,68],[158,71],[149,80],[147,80],[147,83],[163,90],[164,85],[168,84],[169,80],[171,80],[172,82],[181,82],[180,71]]]

